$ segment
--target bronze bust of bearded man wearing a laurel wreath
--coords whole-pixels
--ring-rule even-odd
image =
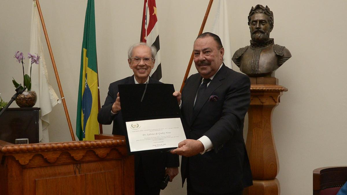
[[[248,15],[251,45],[238,49],[232,61],[250,77],[272,77],[274,71],[287,61],[291,54],[287,48],[274,44],[270,38],[273,13],[268,6],[256,5]]]

